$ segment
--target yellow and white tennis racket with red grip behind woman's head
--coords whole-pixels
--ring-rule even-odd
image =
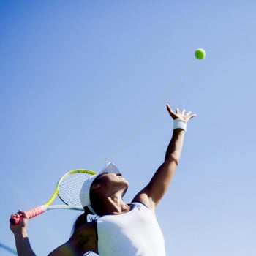
[[[64,176],[59,179],[54,189],[53,195],[50,197],[50,199],[42,206],[37,206],[36,208],[32,208],[29,211],[26,211],[27,216],[29,217],[29,219],[31,219],[51,209],[69,209],[83,211],[83,207],[80,203],[79,197],[80,190],[83,186],[83,182],[86,181],[89,176],[95,174],[97,173],[92,170],[84,169],[70,170],[68,173],[65,173]],[[62,202],[65,203],[65,205],[51,206],[57,195],[62,200]],[[10,223],[12,225],[18,225],[21,219],[23,219],[23,216],[17,216],[17,214],[12,214],[12,216],[10,217]]]

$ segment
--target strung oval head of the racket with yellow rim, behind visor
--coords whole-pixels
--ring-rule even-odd
[[[56,186],[56,191],[61,201],[68,206],[83,208],[80,203],[80,191],[84,181],[86,181],[89,176],[94,175],[97,175],[97,173],[93,170],[86,169],[75,169],[65,173],[64,176],[59,179]]]

